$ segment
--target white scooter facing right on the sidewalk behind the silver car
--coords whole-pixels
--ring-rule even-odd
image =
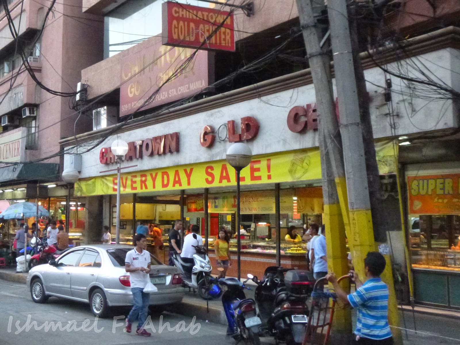
[[[198,244],[198,237],[192,234]],[[207,256],[206,247],[202,245],[192,246],[196,250],[193,254],[194,263],[185,263],[180,254],[173,255],[174,266],[180,270],[185,287],[198,290],[202,299],[216,299],[222,294],[217,279],[211,276],[211,261]]]

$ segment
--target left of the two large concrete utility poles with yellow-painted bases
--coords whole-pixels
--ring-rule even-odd
[[[348,218],[348,210],[341,210],[340,207],[341,204],[346,205],[346,187],[343,183],[345,171],[341,148],[342,141],[335,114],[330,58],[329,54],[322,51],[320,47],[319,30],[317,30],[316,19],[313,15],[311,0],[297,0],[297,8],[316,93],[324,201],[323,223],[326,226],[328,270],[342,276],[348,272],[345,224],[342,217],[344,214],[346,219]],[[346,287],[344,286],[344,288]],[[332,344],[349,344],[351,342],[352,329],[349,308],[341,308],[336,311],[333,329]]]

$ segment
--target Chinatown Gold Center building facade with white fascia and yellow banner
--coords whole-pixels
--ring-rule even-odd
[[[423,1],[385,7],[385,29],[375,35],[381,40],[370,40],[372,56],[368,47],[361,57],[382,197],[391,210],[385,226],[403,277],[399,298],[407,300],[413,285],[417,303],[459,308],[453,288],[458,251],[450,248],[460,235],[460,30],[449,26],[455,25],[450,14],[459,9],[447,13],[448,1],[441,2],[428,20],[428,5],[416,2]],[[81,72],[93,131],[61,144],[92,148],[81,151],[74,192],[86,205],[85,241],[99,241],[103,224],[115,229],[121,188],[122,242],[132,242],[142,220],[160,224],[167,235],[173,221],[183,219],[199,224],[213,247],[221,226],[236,230],[236,177],[225,153],[232,142],[245,141],[253,159],[242,170],[242,224],[249,230],[242,242],[243,274],[260,276],[277,262],[305,267],[305,245],[283,241],[291,225],[321,225],[323,212],[315,92],[303,41],[292,30],[299,26],[295,1],[254,1],[251,16],[236,12],[236,52],[199,52],[196,64],[160,91],[193,49],[162,45],[159,3],[134,8],[129,2],[83,1],[84,13],[104,16],[104,60]],[[245,70],[258,59],[266,63]],[[110,151],[115,138],[130,145],[120,186]],[[163,255],[167,259],[167,250]],[[427,282],[443,293],[434,296]]]

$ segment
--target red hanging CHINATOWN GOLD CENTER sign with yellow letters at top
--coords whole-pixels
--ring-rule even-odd
[[[162,15],[163,45],[235,51],[233,13],[168,1]]]

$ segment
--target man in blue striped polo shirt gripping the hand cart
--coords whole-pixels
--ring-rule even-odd
[[[326,277],[334,286],[337,297],[345,304],[358,308],[356,323],[356,341],[359,345],[392,345],[388,326],[388,288],[380,279],[385,270],[386,261],[379,252],[369,252],[364,259],[366,282],[362,283],[355,271],[350,271],[356,282],[356,292],[347,294],[340,288],[334,273]]]

